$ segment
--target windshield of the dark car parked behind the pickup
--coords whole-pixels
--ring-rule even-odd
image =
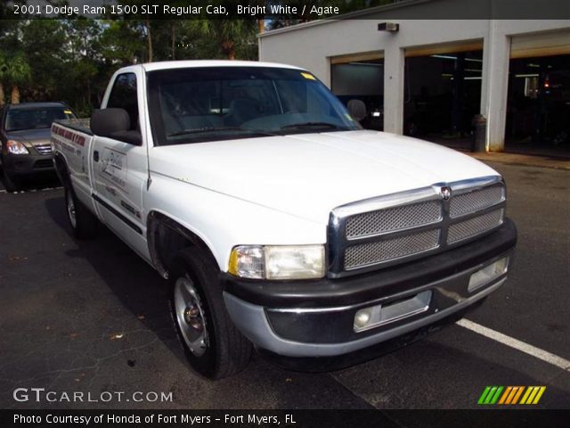
[[[67,107],[14,108],[6,116],[6,131],[50,128],[54,120],[74,119],[76,116]]]

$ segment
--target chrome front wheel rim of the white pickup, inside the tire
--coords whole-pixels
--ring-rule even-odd
[[[175,283],[175,311],[184,342],[193,355],[201,357],[208,349],[206,317],[199,294],[186,277]]]

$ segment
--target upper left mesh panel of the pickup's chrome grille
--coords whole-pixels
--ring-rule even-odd
[[[357,214],[346,221],[346,237],[354,239],[428,225],[441,218],[441,210],[440,202],[427,201]]]

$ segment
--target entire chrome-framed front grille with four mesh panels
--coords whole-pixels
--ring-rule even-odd
[[[444,200],[442,189],[450,187]],[[392,266],[444,251],[501,226],[501,177],[436,184],[354,202],[330,213],[329,276]]]

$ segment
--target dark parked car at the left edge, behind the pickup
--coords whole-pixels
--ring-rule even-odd
[[[18,190],[25,177],[54,172],[50,128],[76,115],[64,103],[6,104],[0,109],[0,164],[4,185]]]

